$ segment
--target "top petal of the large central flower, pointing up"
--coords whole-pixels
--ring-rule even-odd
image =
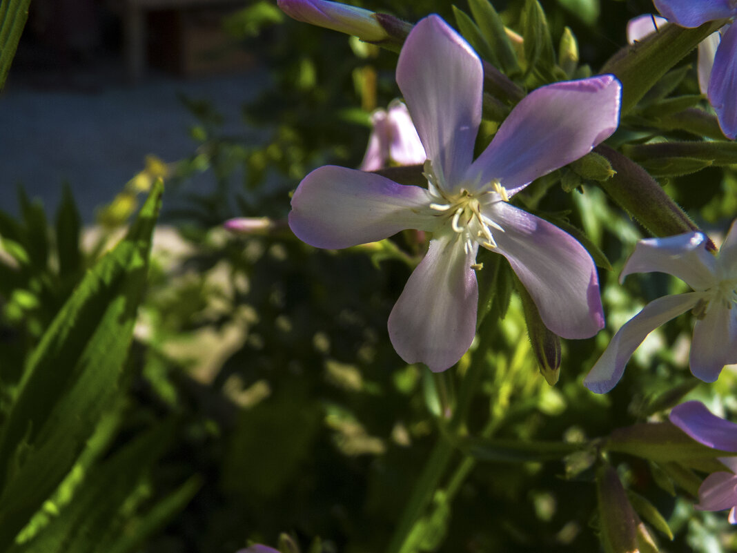
[[[436,175],[458,192],[481,124],[481,60],[437,15],[416,24],[402,46],[397,84]]]

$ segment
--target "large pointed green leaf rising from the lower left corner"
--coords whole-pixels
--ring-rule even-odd
[[[0,434],[0,550],[69,473],[121,393],[162,190],[158,181],[128,236],[88,271],[29,356]]]

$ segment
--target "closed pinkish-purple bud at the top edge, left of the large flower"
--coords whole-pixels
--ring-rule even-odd
[[[278,0],[277,4],[284,13],[297,21],[356,35],[368,42],[389,38],[384,27],[374,17],[374,12],[360,7],[327,0]]]

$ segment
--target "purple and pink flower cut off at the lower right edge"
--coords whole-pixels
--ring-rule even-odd
[[[696,442],[720,451],[737,452],[737,424],[717,417],[699,401],[675,406],[670,420]],[[730,509],[729,521],[737,524],[737,457],[718,459],[730,471],[719,470],[706,477],[699,487],[696,509]]]

